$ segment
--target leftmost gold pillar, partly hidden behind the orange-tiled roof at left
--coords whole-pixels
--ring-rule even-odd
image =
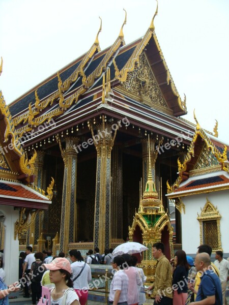
[[[44,183],[44,179],[43,179],[43,177],[44,177],[44,172],[43,172],[44,156],[45,156],[44,151],[37,150],[37,157],[36,157],[36,160],[34,163],[34,167],[35,167],[34,184],[38,188],[41,188],[41,189],[43,188],[43,183]],[[44,228],[44,211],[41,211],[36,215],[35,222],[32,225],[32,227],[30,228],[30,243],[31,244],[35,245],[37,243],[39,236],[43,232],[43,228]]]

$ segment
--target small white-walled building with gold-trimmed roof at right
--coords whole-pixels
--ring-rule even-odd
[[[187,253],[194,254],[207,243],[213,252],[221,250],[228,257],[228,157],[228,146],[210,139],[196,120],[191,145],[183,161],[178,160],[179,177],[173,186],[167,184],[167,197],[181,213],[182,247]]]

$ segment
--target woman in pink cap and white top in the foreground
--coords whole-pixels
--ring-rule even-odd
[[[51,263],[43,264],[49,269],[50,282],[55,284],[51,289],[51,304],[62,304],[65,300],[66,305],[79,305],[79,298],[72,287],[71,265],[66,258],[56,257]]]

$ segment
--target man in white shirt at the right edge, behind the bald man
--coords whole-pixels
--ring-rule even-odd
[[[228,271],[229,271],[229,261],[223,258],[222,251],[215,252],[215,262],[214,264],[219,269],[219,279],[222,286],[222,296],[223,296],[223,305],[227,304],[225,302],[225,291],[226,291],[226,282],[229,280]]]

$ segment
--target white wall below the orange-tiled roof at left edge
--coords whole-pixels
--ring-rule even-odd
[[[19,211],[15,211],[14,207],[9,205],[1,205],[0,211],[5,216],[3,222],[5,226],[3,265],[6,272],[5,283],[10,285],[18,281],[19,242],[18,239],[14,240],[14,224],[19,218]]]

